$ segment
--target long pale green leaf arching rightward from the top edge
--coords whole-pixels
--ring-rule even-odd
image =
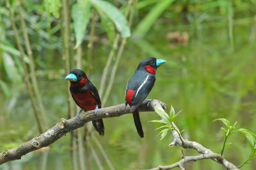
[[[115,23],[116,28],[120,31],[123,38],[131,36],[131,31],[128,26],[127,19],[122,12],[108,1],[90,0],[97,10],[101,10]]]

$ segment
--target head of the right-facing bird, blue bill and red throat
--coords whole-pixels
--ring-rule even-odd
[[[140,62],[138,68],[145,68],[147,72],[156,74],[156,69],[166,63],[164,59],[146,58]]]

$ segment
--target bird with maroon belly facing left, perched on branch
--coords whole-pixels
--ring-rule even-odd
[[[79,69],[72,69],[65,77],[70,81],[70,93],[76,104],[81,108],[77,113],[77,120],[81,111],[92,111],[97,114],[98,109],[101,108],[99,93],[95,85],[88,79],[86,73]],[[104,135],[104,123],[102,119],[93,120],[93,127],[99,135]]]

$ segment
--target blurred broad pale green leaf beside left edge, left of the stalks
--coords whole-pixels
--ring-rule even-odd
[[[21,82],[22,79],[20,77],[19,72],[17,71],[17,68],[15,66],[15,63],[7,52],[3,52],[3,63],[4,63],[4,70],[7,73],[8,78],[12,82]]]

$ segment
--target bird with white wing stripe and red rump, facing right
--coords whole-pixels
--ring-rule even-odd
[[[140,62],[136,71],[127,83],[125,89],[125,110],[127,104],[131,107],[134,124],[140,137],[144,137],[141,126],[139,109],[141,102],[147,98],[148,93],[156,82],[156,70],[159,66],[166,63],[164,59],[146,58]]]

